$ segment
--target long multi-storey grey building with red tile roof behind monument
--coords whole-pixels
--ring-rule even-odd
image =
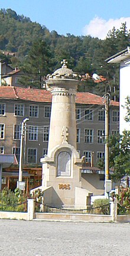
[[[93,166],[105,152],[105,103],[102,97],[87,92],[76,94],[77,151]],[[51,93],[47,90],[1,86],[0,154],[15,154],[19,161],[21,123],[25,125],[23,166],[34,176],[47,154],[51,113]],[[119,103],[109,105],[109,134],[119,131]],[[35,174],[36,173],[36,174]],[[35,180],[40,183],[40,175]],[[16,178],[17,179],[17,178]],[[35,184],[36,185],[36,184]]]

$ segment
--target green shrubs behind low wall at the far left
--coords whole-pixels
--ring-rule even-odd
[[[26,212],[27,211],[27,195],[21,190],[15,189],[14,192],[4,187],[0,192],[0,210]]]

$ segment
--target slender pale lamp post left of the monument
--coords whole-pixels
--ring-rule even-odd
[[[21,125],[21,138],[20,138],[20,155],[19,155],[19,176],[18,176],[18,183],[17,183],[17,187],[20,188],[20,183],[22,182],[22,159],[23,159],[23,139],[24,139],[24,127],[25,127],[25,123],[29,120],[29,118],[25,118],[22,121],[22,125]]]

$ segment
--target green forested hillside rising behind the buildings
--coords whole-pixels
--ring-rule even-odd
[[[92,73],[102,74],[109,82],[94,83],[89,79],[81,82],[80,90],[103,96],[105,88],[111,86],[112,97],[115,90],[118,99],[119,67],[107,64],[105,59],[129,46],[130,33],[126,24],[121,24],[120,30],[113,27],[105,40],[90,35],[59,35],[11,9],[1,9],[0,24],[0,58],[12,67],[24,70],[21,84],[40,88],[43,77],[60,67],[60,61],[66,59],[68,67],[75,72],[81,75],[89,73],[90,76]],[[15,56],[5,56],[5,51],[13,52]]]

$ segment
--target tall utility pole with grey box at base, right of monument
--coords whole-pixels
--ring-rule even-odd
[[[105,93],[105,195],[112,189],[112,181],[109,180],[109,101],[110,94]]]

